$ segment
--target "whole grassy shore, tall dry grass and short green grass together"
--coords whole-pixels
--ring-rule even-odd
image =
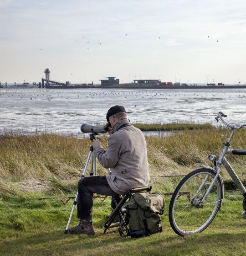
[[[182,177],[197,169],[196,163],[210,165],[207,155],[218,155],[223,128],[185,129],[169,137],[146,138],[153,192],[173,192]],[[101,137],[106,146],[107,138]],[[0,136],[0,255],[246,255],[246,220],[242,218],[242,196],[225,192],[221,211],[200,234],[181,238],[168,221],[171,196],[165,196],[162,216],[164,231],[141,239],[120,237],[118,232],[103,234],[110,198],[94,201],[93,222],[96,235],[64,235],[77,180],[87,159],[89,139],[56,134]],[[243,149],[246,131],[233,138],[233,148]],[[233,156],[230,162],[245,181],[246,157]],[[106,174],[98,166],[98,174]],[[225,170],[226,189],[234,189]],[[52,197],[45,200],[36,198]],[[76,211],[71,225],[77,225]]]

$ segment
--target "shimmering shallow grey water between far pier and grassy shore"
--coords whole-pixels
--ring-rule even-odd
[[[80,133],[123,105],[131,122],[246,123],[246,89],[0,89],[0,133]]]

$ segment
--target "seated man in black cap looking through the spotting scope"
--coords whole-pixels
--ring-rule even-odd
[[[111,107],[106,118],[111,126],[108,147],[104,150],[99,140],[93,140],[93,149],[99,163],[110,168],[111,174],[86,176],[78,181],[77,217],[80,222],[69,229],[72,234],[95,234],[92,224],[93,193],[115,196],[119,201],[119,195],[130,188],[149,184],[144,134],[130,124],[123,106]]]

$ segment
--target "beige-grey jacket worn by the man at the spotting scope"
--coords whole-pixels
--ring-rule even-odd
[[[120,195],[130,188],[144,187],[149,184],[149,165],[144,134],[138,128],[128,124],[128,119],[118,122],[108,138],[107,149],[104,150],[102,146],[98,146],[94,150],[99,163],[104,168],[110,168],[112,172],[111,175],[106,176],[109,186]]]

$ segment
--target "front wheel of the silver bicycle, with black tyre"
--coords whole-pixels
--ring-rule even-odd
[[[185,176],[176,187],[169,205],[169,222],[178,235],[201,232],[215,218],[223,199],[220,176],[205,201],[200,202],[215,175],[215,171],[198,169]]]

